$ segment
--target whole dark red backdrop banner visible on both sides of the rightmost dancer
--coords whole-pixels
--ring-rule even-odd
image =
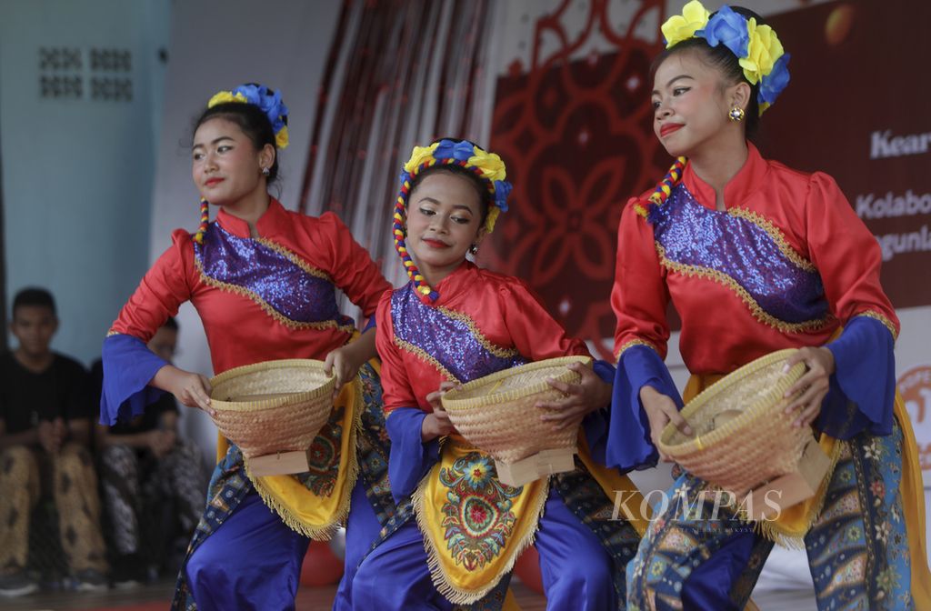
[[[656,12],[666,19],[665,3],[642,2],[617,31],[610,2],[594,0],[573,35],[563,23],[570,6],[536,21],[531,65],[515,62],[498,80],[491,147],[515,188],[479,262],[525,278],[569,333],[610,358],[620,211],[672,161],[650,108],[650,64],[662,46],[634,35]],[[762,153],[837,179],[880,241],[897,307],[931,304],[931,283],[916,277],[931,265],[931,39],[921,34],[929,20],[931,3],[919,0],[833,2],[766,18],[792,60],[789,88],[763,116]],[[546,57],[545,36],[560,41]],[[594,37],[615,50],[578,59]]]

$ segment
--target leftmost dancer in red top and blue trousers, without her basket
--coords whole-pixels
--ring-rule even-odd
[[[210,100],[191,149],[200,227],[193,235],[174,232],[103,345],[102,424],[142,413],[162,390],[210,410],[206,377],[145,346],[186,301],[203,321],[215,373],[265,360],[318,359],[341,387],[305,473],[250,477],[236,445],[220,440],[174,608],[293,609],[310,538],[329,538],[344,520],[339,595],[348,596],[361,554],[394,512],[380,385],[368,362],[374,330],[351,341],[358,332],[340,314],[335,293],[371,317],[390,285],[334,214],[290,212],[269,196],[278,150],[288,143],[287,115],[280,92],[263,86]],[[208,202],[220,209],[213,222]]]

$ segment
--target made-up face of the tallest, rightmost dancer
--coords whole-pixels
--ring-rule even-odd
[[[670,55],[654,76],[654,133],[671,156],[694,156],[736,127],[727,116],[733,86],[699,52]]]

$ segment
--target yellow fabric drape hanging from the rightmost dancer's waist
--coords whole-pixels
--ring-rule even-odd
[[[691,401],[698,393],[710,387],[723,377],[720,374],[692,375],[685,385],[682,393],[683,401]],[[902,431],[902,474],[898,484],[898,491],[902,498],[902,510],[905,513],[906,533],[909,539],[909,553],[911,557],[911,597],[914,599],[916,609],[931,609],[931,572],[928,571],[927,549],[924,540],[924,484],[922,481],[922,468],[919,462],[918,446],[915,442],[914,432],[911,430],[911,419],[905,410],[905,401],[896,390],[896,401],[893,414]],[[829,435],[821,434],[818,441],[821,449],[831,458],[831,471],[840,455],[842,441]],[[768,523],[764,529],[767,536],[776,536],[777,540],[786,542],[787,539],[800,540],[818,517],[824,505],[824,498],[830,483],[830,473],[821,483],[816,496],[803,503],[783,509],[776,522]],[[768,531],[768,532],[767,532]]]

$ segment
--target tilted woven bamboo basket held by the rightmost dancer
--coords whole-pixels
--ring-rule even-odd
[[[796,414],[784,414],[786,391],[802,377],[804,363],[783,373],[794,349],[753,360],[706,388],[682,408],[695,435],[671,423],[660,449],[695,476],[733,492],[747,491],[799,470],[811,428],[792,427]]]

